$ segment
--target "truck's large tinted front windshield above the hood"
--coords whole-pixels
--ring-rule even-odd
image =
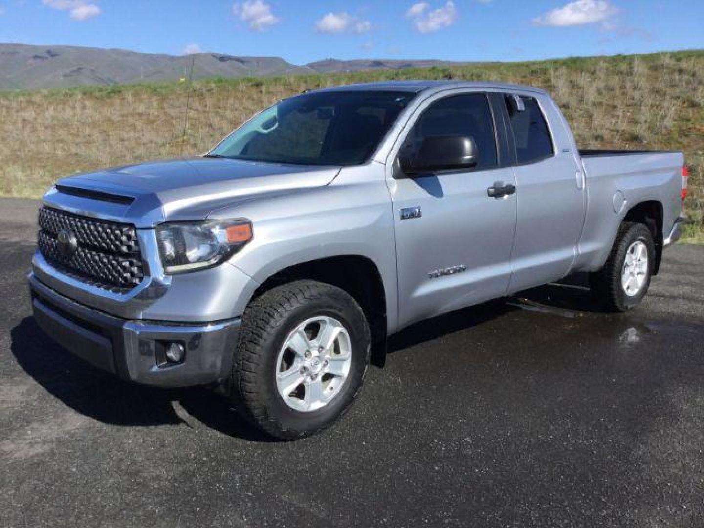
[[[246,122],[208,156],[300,165],[367,161],[413,94],[329,92],[285,99]]]

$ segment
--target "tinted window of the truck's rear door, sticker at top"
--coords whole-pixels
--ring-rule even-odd
[[[520,96],[524,106],[524,111],[520,112],[513,98],[506,96],[505,101],[516,145],[516,161],[532,163],[550,158],[555,150],[538,101],[534,97]]]

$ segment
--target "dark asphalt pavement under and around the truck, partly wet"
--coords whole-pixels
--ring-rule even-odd
[[[277,443],[52,344],[34,208],[0,201],[0,526],[704,525],[704,247],[629,315],[551,285],[408,329],[336,427]]]

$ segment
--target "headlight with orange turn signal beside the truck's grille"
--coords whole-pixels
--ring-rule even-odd
[[[161,265],[166,273],[218,265],[252,238],[246,220],[167,223],[156,227]]]

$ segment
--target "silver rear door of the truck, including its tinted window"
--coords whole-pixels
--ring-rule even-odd
[[[584,225],[586,189],[572,134],[551,100],[506,94],[504,102],[517,185],[509,286],[515,292],[570,271]]]

